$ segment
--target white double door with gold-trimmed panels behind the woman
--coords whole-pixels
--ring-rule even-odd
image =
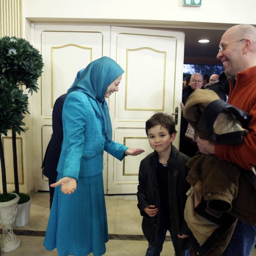
[[[67,92],[78,70],[102,56],[125,73],[119,92],[109,99],[113,140],[145,153],[119,161],[104,154],[105,194],[135,194],[140,161],[152,148],[145,121],[155,112],[175,113],[182,94],[184,34],[158,29],[111,26],[34,25],[34,45],[44,59],[40,91],[33,96],[37,189],[48,190],[42,158],[52,134],[55,100]],[[40,103],[39,103],[40,102]],[[177,130],[179,130],[178,118]],[[179,136],[179,134],[178,134]],[[177,137],[178,137],[177,136]],[[178,139],[174,142],[178,147]]]

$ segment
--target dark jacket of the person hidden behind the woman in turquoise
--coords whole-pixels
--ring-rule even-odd
[[[49,178],[49,181],[56,181],[57,178],[57,165],[59,155],[61,152],[61,144],[63,140],[63,127],[62,127],[62,109],[67,93],[59,96],[53,106],[52,112],[52,137],[47,146],[42,167],[44,167],[43,174]]]

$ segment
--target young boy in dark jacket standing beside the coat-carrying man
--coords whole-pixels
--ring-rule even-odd
[[[140,163],[138,208],[143,216],[142,230],[148,241],[146,256],[157,256],[167,230],[176,256],[189,255],[188,227],[184,220],[185,178],[188,156],[172,145],[177,131],[172,116],[156,113],[146,121],[146,134],[154,152]]]

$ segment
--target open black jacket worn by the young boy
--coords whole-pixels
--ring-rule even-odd
[[[170,215],[176,256],[180,256],[184,250],[190,247],[188,238],[178,238],[178,234],[188,234],[188,227],[184,220],[184,208],[187,199],[186,192],[190,187],[186,182],[189,169],[185,166],[185,163],[188,159],[188,156],[179,152],[172,145],[172,153],[167,164]],[[143,216],[142,230],[148,242],[153,245],[156,245],[159,239],[160,214],[158,213],[155,217],[150,217],[143,209],[148,205],[156,205],[159,211],[161,211],[159,208],[159,184],[157,184],[156,178],[157,163],[158,153],[156,151],[141,161],[137,192],[138,208],[140,209],[141,216]]]

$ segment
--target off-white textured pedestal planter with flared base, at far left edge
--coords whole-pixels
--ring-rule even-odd
[[[14,193],[13,193],[14,194]],[[17,215],[17,204],[19,196],[11,201],[0,203],[0,223],[3,226],[1,247],[3,252],[16,250],[20,245],[20,240],[15,236],[12,225]]]

